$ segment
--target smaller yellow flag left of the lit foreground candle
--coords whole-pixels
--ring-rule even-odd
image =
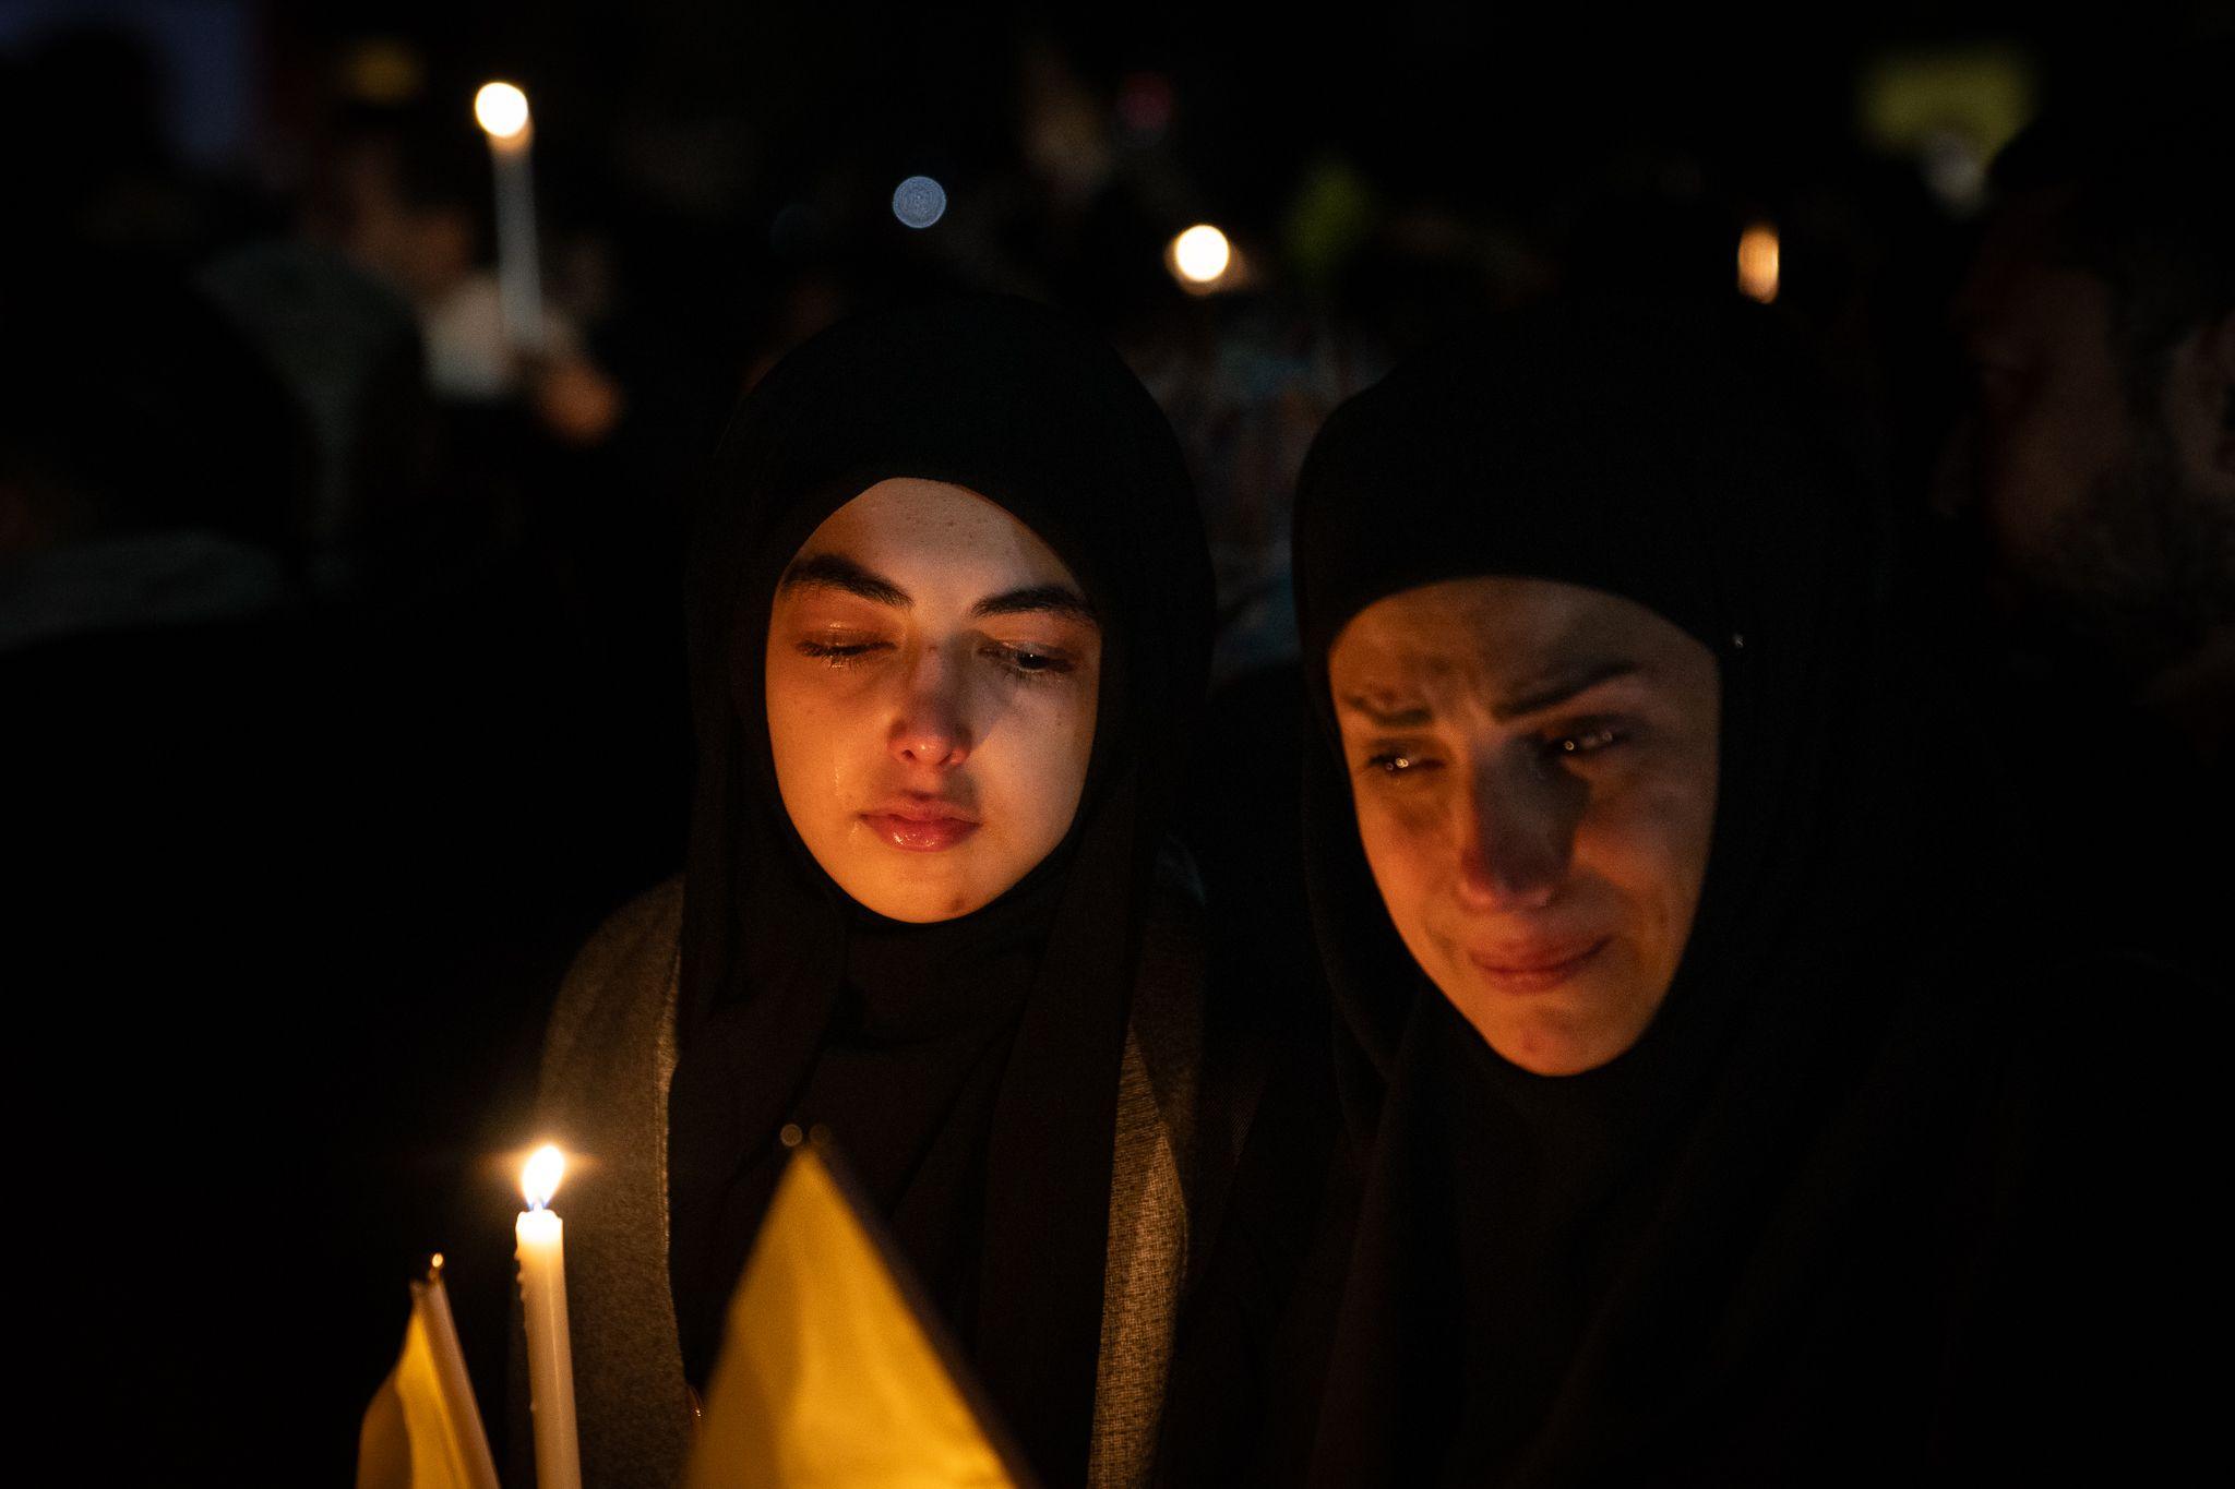
[[[364,1409],[358,1489],[496,1489],[496,1462],[465,1375],[443,1259],[411,1284],[405,1351]]]

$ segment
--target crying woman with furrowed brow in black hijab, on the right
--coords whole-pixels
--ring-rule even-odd
[[[1305,830],[1357,1172],[1258,1478],[1886,1480],[2125,1431],[2139,1362],[2096,1348],[2143,1185],[2058,1116],[2070,978],[1924,835],[1949,719],[1822,406],[1761,315],[1551,306],[1321,433]]]

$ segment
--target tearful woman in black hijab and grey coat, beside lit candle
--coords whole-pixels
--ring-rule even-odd
[[[586,1478],[679,1473],[798,1123],[1030,1467],[1135,1480],[1202,1176],[1160,848],[1209,563],[1164,417],[1024,301],[840,324],[740,406],[686,603],[686,875],[583,951],[541,1085]]]

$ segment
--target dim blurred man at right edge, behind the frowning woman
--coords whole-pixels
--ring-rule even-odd
[[[2217,78],[2217,83],[2213,83]],[[1996,757],[2038,891],[2235,987],[2235,132],[2228,69],[2049,114],[1956,299]]]

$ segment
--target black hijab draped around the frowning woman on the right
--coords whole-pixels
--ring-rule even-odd
[[[1918,1464],[1994,998],[1951,967],[1893,708],[1886,542],[1763,313],[1540,306],[1339,409],[1301,478],[1307,871],[1363,1165],[1314,1482],[1754,1480]],[[1645,1036],[1502,1060],[1359,846],[1328,650],[1372,601],[1535,576],[1719,661],[1714,839]],[[1927,1237],[1933,1243],[1927,1243]],[[1960,1250],[1960,1246],[1956,1246]]]

